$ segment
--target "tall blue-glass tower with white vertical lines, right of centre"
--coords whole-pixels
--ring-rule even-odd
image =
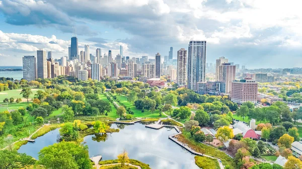
[[[197,92],[198,82],[205,82],[206,41],[190,41],[188,46],[188,89]]]

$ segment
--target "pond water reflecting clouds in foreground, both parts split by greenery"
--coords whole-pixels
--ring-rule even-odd
[[[111,128],[120,128],[117,133],[95,134],[84,138],[85,145],[89,147],[89,155],[101,154],[103,160],[116,159],[123,149],[128,152],[129,158],[137,159],[157,169],[183,169],[199,168],[195,164],[194,155],[181,148],[168,139],[169,135],[175,134],[173,128],[153,130],[145,128],[143,124],[117,125]],[[58,129],[36,139],[34,144],[21,146],[18,152],[25,152],[38,158],[38,152],[44,146],[56,142]]]

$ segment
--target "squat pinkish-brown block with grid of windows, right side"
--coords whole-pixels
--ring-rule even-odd
[[[238,104],[244,102],[257,103],[258,83],[253,79],[241,79],[232,82],[231,101]]]

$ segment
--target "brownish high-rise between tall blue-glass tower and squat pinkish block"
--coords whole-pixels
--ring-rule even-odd
[[[219,66],[219,78],[217,81],[223,83],[222,93],[231,94],[232,82],[235,80],[236,66],[230,63],[222,63]]]

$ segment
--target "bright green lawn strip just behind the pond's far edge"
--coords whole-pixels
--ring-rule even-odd
[[[159,110],[156,110],[154,113],[151,113],[150,111],[147,110],[141,112],[141,110],[136,109],[132,103],[128,102],[126,96],[117,95],[117,94],[115,94],[114,96],[116,96],[116,98],[119,99],[121,103],[123,103],[127,108],[130,108],[134,112],[133,115],[134,117],[149,117],[149,118],[159,117]],[[165,115],[162,115],[162,117],[165,117]]]

